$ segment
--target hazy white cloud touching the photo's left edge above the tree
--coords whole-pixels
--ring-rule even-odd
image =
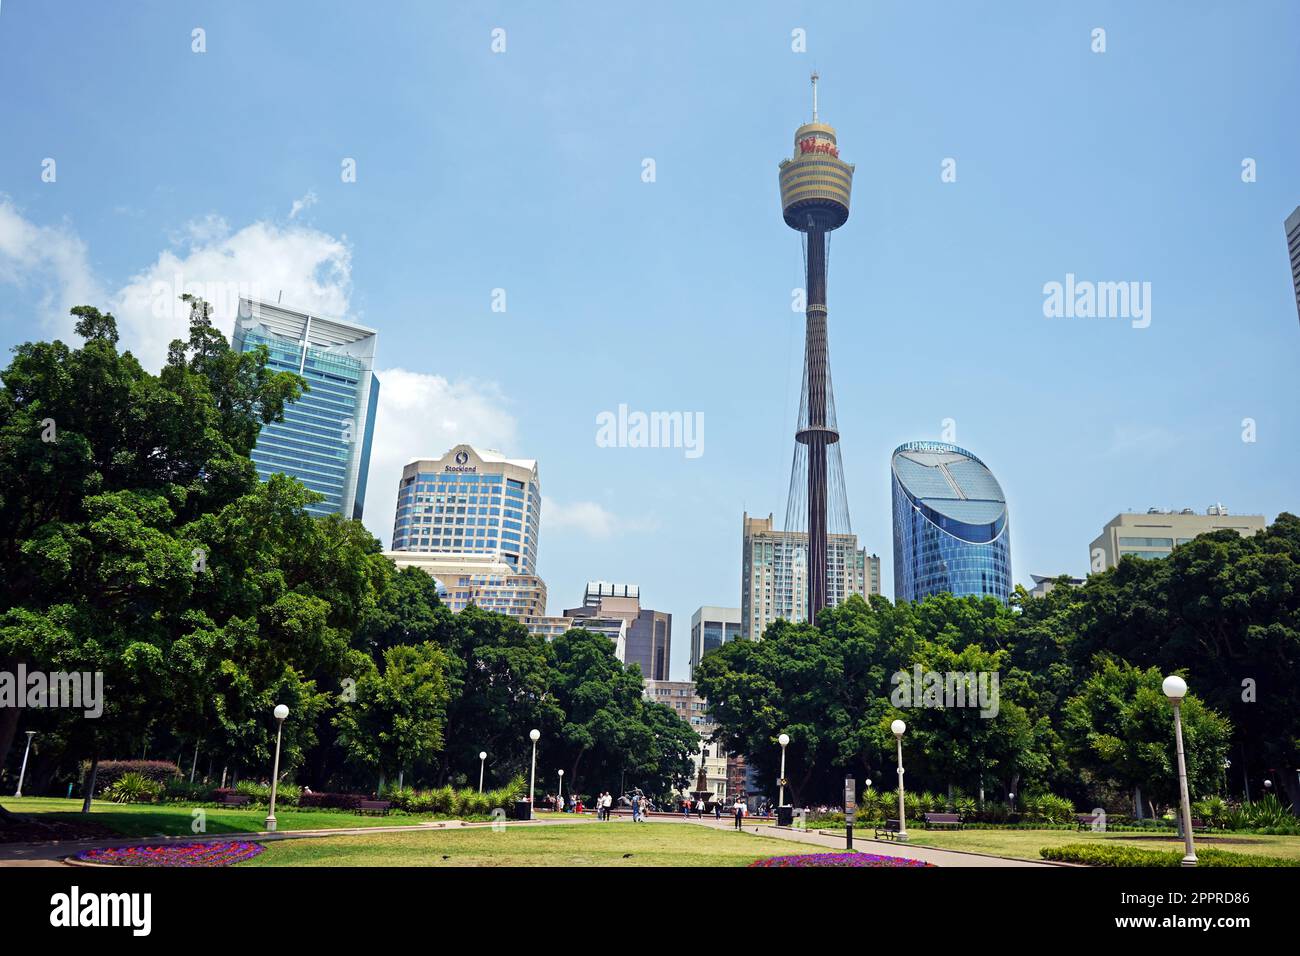
[[[69,338],[68,310],[103,302],[86,243],[69,226],[38,226],[0,196],[0,282],[18,286],[36,303],[47,332]]]

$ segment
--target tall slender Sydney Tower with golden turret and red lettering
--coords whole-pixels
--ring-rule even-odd
[[[803,234],[806,272],[806,333],[803,345],[803,392],[794,434],[794,467],[786,531],[807,518],[807,620],[815,623],[827,605],[827,528],[848,532],[848,497],[840,458],[840,432],[831,390],[831,356],[827,343],[826,272],[829,233],[849,219],[853,165],[840,159],[835,129],[818,120],[816,81],[812,74],[812,122],[794,131],[794,156],[783,160],[781,212],[785,225]],[[829,463],[828,463],[829,458]],[[806,489],[806,490],[805,490]]]

